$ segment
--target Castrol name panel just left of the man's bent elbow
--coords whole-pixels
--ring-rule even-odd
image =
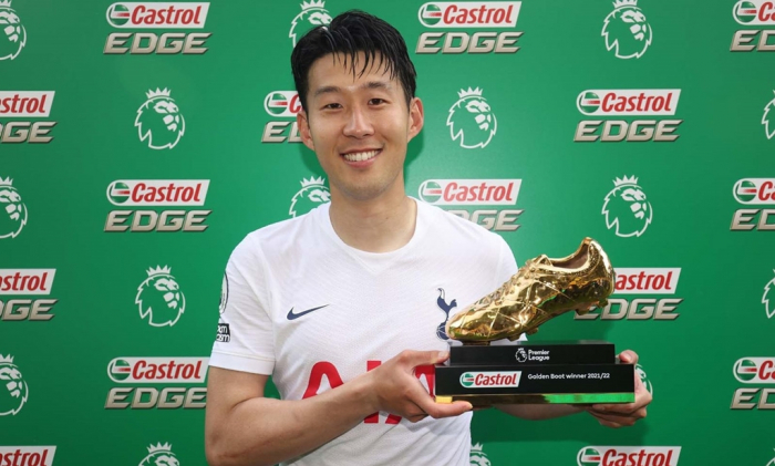
[[[202,383],[209,358],[116,358],[107,376],[116,383]]]

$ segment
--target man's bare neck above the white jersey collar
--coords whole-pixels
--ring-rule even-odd
[[[417,205],[403,190],[368,201],[331,194],[331,225],[345,245],[368,252],[390,252],[412,239]]]

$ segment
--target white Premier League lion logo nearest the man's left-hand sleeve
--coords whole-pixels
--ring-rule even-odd
[[[169,272],[166,266],[148,269],[148,278],[137,287],[140,318],[147,317],[152,327],[173,327],[186,310],[186,298]]]

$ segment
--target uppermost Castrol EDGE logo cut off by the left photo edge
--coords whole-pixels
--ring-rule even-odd
[[[1,14],[0,18],[2,18]],[[53,136],[49,133],[56,122],[29,118],[46,118],[53,105],[54,91],[0,91],[0,117],[3,118],[3,123],[0,124],[0,142],[50,143]]]

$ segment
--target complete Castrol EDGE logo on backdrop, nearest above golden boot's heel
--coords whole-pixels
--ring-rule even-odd
[[[582,91],[576,97],[576,107],[587,116],[672,116],[681,96],[680,89],[604,90]],[[588,143],[613,142],[673,142],[683,120],[585,120],[576,126],[574,141]]]

